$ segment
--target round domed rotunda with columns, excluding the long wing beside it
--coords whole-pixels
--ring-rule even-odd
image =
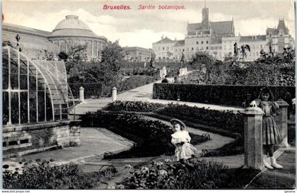
[[[100,59],[100,53],[107,42],[106,37],[93,33],[78,16],[66,16],[47,39],[59,48],[59,52],[68,53],[77,45],[86,45],[88,59]]]

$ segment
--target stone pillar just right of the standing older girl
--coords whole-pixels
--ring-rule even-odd
[[[289,147],[288,144],[288,107],[289,104],[286,101],[279,99],[276,101],[279,105],[279,110],[274,117],[276,125],[279,129],[279,134],[281,134],[281,146]]]

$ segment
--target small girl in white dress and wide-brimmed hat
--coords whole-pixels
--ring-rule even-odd
[[[190,144],[191,137],[189,132],[185,129],[186,125],[179,119],[171,119],[170,123],[175,129],[175,133],[172,134],[171,143],[175,145],[175,158],[176,160],[186,160],[194,156],[194,151],[197,149]]]

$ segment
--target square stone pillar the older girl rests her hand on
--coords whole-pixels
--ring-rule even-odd
[[[264,168],[262,159],[262,116],[260,107],[247,107],[245,115],[245,167]]]

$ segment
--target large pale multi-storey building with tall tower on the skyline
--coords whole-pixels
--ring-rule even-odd
[[[238,48],[249,45],[247,61],[253,61],[260,57],[260,51],[269,52],[269,45],[275,53],[284,52],[284,47],[294,48],[294,40],[286,28],[284,20],[279,20],[277,28],[267,28],[266,35],[235,36],[233,19],[231,21],[211,22],[209,20],[209,8],[202,8],[202,22],[188,23],[185,40],[170,40],[163,36],[161,40],[153,43],[153,52],[156,58],[165,59],[168,53],[173,51],[170,59],[180,60],[182,52],[185,59],[190,60],[196,52],[208,52],[216,59],[223,60],[228,54],[234,54],[234,44]],[[240,54],[240,53],[239,53]]]

